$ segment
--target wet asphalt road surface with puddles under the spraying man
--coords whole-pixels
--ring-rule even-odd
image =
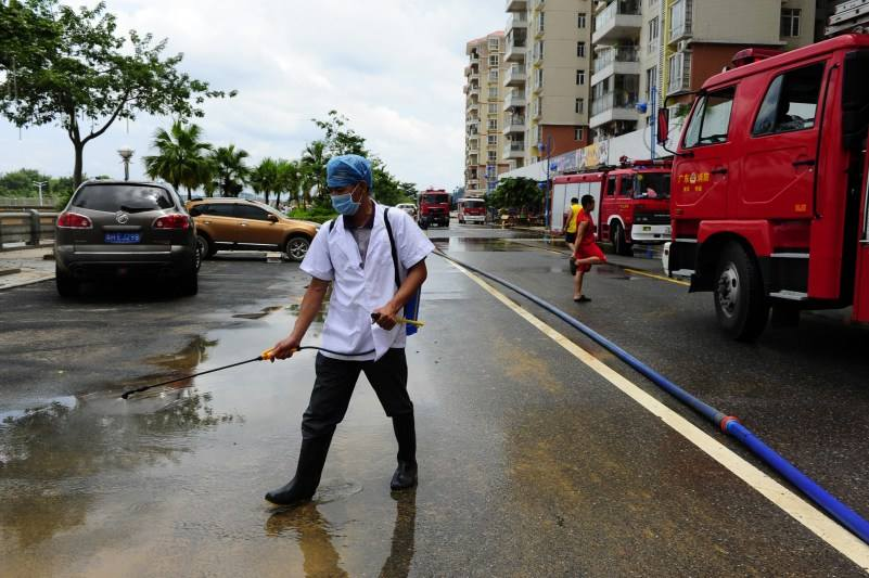
[[[605,267],[589,275],[593,301],[580,309],[564,257],[534,241],[485,241],[517,235],[474,227],[430,236],[739,415],[869,514],[865,330],[807,316],[796,331],[734,344],[718,333],[707,295]],[[207,261],[202,273],[201,294],[186,299],[138,288],[61,301],[48,283],[0,293],[3,574],[860,574],[436,257],[427,324],[408,347],[419,489],[389,494],[395,441],[362,377],[317,500],[274,511],[261,494],[292,475],[312,355],[117,398],[150,380],[256,356],[285,334],[306,284],[296,265],[244,256]]]

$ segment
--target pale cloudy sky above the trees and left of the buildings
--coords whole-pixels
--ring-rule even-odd
[[[71,2],[95,4],[92,1]],[[503,0],[107,0],[119,29],[167,37],[182,67],[235,99],[206,105],[216,145],[234,143],[253,163],[297,158],[319,137],[310,118],[334,108],[368,139],[389,170],[424,188],[461,183],[465,42],[503,27]],[[141,154],[167,118],[116,123],[85,150],[89,175],[122,174],[115,151]],[[61,176],[73,149],[57,127],[18,130],[0,119],[0,172]]]

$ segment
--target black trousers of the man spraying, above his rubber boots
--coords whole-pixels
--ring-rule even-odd
[[[360,372],[371,382],[387,416],[413,415],[404,348],[389,349],[376,361],[345,361],[317,354],[316,369],[317,381],[302,418],[302,439],[332,437],[347,413]]]

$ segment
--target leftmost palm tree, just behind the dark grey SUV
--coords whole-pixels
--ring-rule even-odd
[[[201,139],[199,125],[184,126],[181,120],[172,123],[168,132],[157,129],[151,143],[157,154],[144,157],[145,174],[152,179],[165,180],[175,189],[186,187],[190,201],[193,189],[203,184],[207,163],[204,153],[212,150],[212,145]]]

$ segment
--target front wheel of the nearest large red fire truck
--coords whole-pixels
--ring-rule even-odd
[[[757,264],[742,245],[730,243],[721,252],[714,295],[718,323],[728,335],[752,341],[764,332],[769,304]]]

